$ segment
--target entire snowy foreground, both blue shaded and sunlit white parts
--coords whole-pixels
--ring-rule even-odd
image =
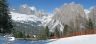
[[[0,44],[3,43],[5,41],[0,37]],[[12,44],[96,44],[96,34],[38,41],[15,40]]]

